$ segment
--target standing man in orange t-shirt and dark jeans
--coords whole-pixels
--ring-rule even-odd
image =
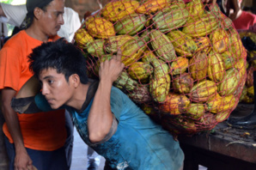
[[[33,76],[27,55],[43,42],[59,39],[64,24],[64,0],[27,0],[27,17],[20,33],[0,51],[0,92],[6,123],[3,132],[9,155],[9,169],[68,169],[64,143],[67,138],[64,110],[21,115],[10,101]]]

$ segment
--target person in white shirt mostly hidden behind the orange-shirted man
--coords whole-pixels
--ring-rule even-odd
[[[15,26],[15,29],[21,26],[21,21],[24,20],[27,14],[26,5],[11,5],[7,3],[0,3],[0,21],[7,22]],[[64,7],[64,25],[62,25],[58,31],[58,36],[64,37],[69,42],[72,41],[76,30],[81,27],[81,21],[75,10],[68,7]],[[16,33],[16,32],[15,32]],[[13,33],[13,34],[15,34]],[[13,36],[13,35],[12,35]],[[68,167],[70,167],[72,159],[72,143],[73,143],[73,124],[70,119],[69,112],[65,112],[66,129],[68,130],[68,136],[70,137],[65,144],[66,155],[68,160]],[[67,146],[66,146],[67,145]],[[70,145],[70,146],[69,146]],[[101,163],[101,156],[98,155],[93,149],[88,147],[88,170],[96,170]]]

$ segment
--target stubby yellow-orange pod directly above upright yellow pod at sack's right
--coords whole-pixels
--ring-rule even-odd
[[[210,33],[210,41],[215,52],[222,53],[227,51],[229,37],[225,29],[218,28],[213,33]]]

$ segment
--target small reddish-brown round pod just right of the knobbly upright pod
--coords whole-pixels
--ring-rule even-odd
[[[188,94],[193,86],[193,79],[190,74],[174,76],[174,91],[180,94]]]

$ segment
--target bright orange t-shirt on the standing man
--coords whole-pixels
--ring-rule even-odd
[[[58,36],[49,41],[59,39]],[[23,84],[33,76],[28,68],[27,56],[34,47],[43,42],[27,35],[22,30],[9,39],[0,51],[0,89],[13,88],[19,91]],[[64,110],[34,114],[17,113],[25,147],[51,151],[64,146],[67,137]],[[13,143],[8,127],[3,124],[3,132]]]

